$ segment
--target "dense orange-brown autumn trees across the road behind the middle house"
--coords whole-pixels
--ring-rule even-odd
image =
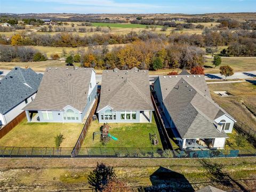
[[[101,69],[187,68],[204,65],[204,51],[196,46],[165,44],[161,41],[135,41],[124,47],[114,47],[111,51],[103,46],[81,54],[83,67]]]

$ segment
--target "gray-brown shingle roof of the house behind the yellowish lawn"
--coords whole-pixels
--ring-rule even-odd
[[[63,110],[68,105],[83,111],[93,68],[47,68],[36,98],[25,110]]]

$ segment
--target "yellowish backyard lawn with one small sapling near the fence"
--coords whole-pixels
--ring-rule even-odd
[[[60,147],[74,147],[82,129],[81,123],[27,123],[25,118],[0,139],[0,146],[55,147],[54,137],[61,133],[65,139]]]

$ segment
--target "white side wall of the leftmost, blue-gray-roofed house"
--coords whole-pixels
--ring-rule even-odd
[[[36,93],[31,95],[30,97],[28,97],[28,103],[30,103],[32,101],[31,98],[33,98],[33,100],[35,99]],[[12,119],[14,119],[15,117],[17,117],[19,114],[21,114],[23,112],[23,108],[28,105],[28,103],[25,102],[25,100],[23,102],[21,102],[18,106],[14,107],[12,110],[8,111],[6,114],[4,114],[5,120],[6,120],[6,124],[11,122]]]

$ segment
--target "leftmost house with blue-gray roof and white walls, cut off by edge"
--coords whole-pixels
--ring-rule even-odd
[[[34,100],[42,77],[30,68],[14,67],[0,80],[0,127],[11,122]]]

